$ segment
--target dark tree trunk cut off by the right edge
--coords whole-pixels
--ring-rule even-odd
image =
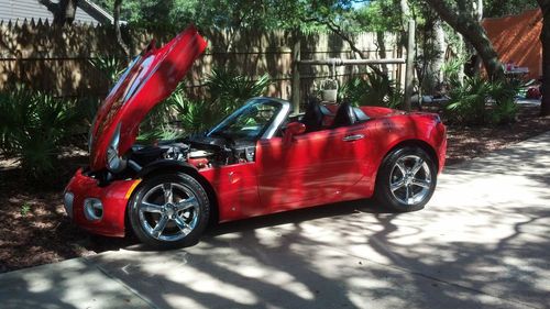
[[[542,103],[540,115],[550,115],[550,0],[537,0],[542,10],[542,31],[540,42],[542,43]]]

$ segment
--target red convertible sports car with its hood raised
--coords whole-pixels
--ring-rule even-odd
[[[140,122],[207,43],[189,27],[138,56],[101,104],[90,163],[64,194],[68,216],[97,234],[132,230],[155,247],[198,241],[226,222],[375,197],[395,211],[431,198],[447,148],[437,114],[253,98],[201,135],[134,144]]]

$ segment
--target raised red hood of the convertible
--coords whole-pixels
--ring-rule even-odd
[[[155,42],[138,56],[101,103],[90,131],[90,168],[106,168],[107,150],[120,130],[118,153],[135,142],[143,118],[167,98],[184,78],[207,42],[194,26],[161,48]]]

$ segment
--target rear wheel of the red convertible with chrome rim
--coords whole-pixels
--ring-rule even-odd
[[[411,175],[417,167],[417,158],[422,163]],[[437,177],[436,163],[422,148],[399,147],[384,158],[376,177],[374,196],[380,203],[397,212],[420,210],[431,199]]]

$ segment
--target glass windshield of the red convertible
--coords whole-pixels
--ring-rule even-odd
[[[256,140],[267,130],[280,109],[279,102],[254,100],[216,125],[208,136]]]

